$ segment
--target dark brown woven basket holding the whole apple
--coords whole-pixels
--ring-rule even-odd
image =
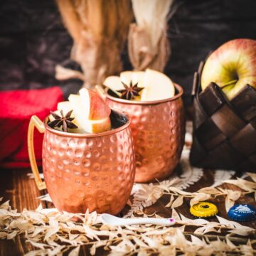
[[[247,85],[232,100],[215,83],[201,91],[201,62],[193,81],[190,161],[206,169],[256,171],[256,90]]]

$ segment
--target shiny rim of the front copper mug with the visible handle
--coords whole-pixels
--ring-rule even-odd
[[[49,132],[53,132],[55,134],[58,134],[60,136],[63,137],[75,137],[75,138],[92,138],[92,137],[102,137],[102,136],[107,136],[107,135],[111,135],[111,134],[115,134],[117,132],[122,131],[123,129],[126,129],[127,127],[129,127],[129,125],[131,124],[131,118],[129,117],[129,114],[127,114],[127,112],[124,112],[122,110],[117,110],[117,109],[112,109],[116,112],[119,112],[120,114],[125,114],[127,117],[127,122],[122,125],[121,127],[115,128],[115,129],[110,129],[109,131],[106,132],[100,132],[100,133],[96,133],[96,134],[90,134],[90,133],[71,133],[71,132],[62,132],[62,131],[58,131],[56,129],[53,129],[51,127],[48,126],[47,121],[48,121],[48,117],[50,116],[50,114],[46,117],[46,119],[44,119],[44,126],[46,127],[46,129]]]

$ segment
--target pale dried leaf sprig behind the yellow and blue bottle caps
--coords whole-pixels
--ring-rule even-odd
[[[254,178],[255,176],[255,174],[252,173],[247,174],[251,178]],[[225,206],[227,211],[242,195],[246,195],[248,193],[255,193],[256,198],[256,183],[246,181],[241,178],[238,178],[236,180],[223,181],[223,183],[232,183],[235,186],[242,188],[243,191],[233,191],[220,187],[206,187],[201,188],[196,192],[188,192],[177,188],[177,186],[174,186],[175,183],[178,183],[178,180],[176,178],[169,181],[169,183],[162,182],[158,184],[151,183],[149,185],[141,185],[137,192],[134,193],[135,204],[132,204],[131,210],[127,214],[127,217],[134,215],[135,213],[137,213],[137,211],[141,211],[145,207],[151,206],[153,203],[156,203],[156,201],[163,195],[170,196],[170,201],[166,205],[166,207],[171,208],[177,208],[178,206],[181,206],[183,204],[184,198],[191,198],[190,204],[192,206],[199,201],[206,201],[210,198],[225,196]]]

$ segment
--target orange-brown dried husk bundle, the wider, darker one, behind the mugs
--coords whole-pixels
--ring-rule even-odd
[[[71,58],[82,74],[56,68],[56,78],[78,78],[85,87],[102,83],[122,70],[120,52],[132,21],[132,4],[127,0],[57,0],[63,22],[73,38]]]

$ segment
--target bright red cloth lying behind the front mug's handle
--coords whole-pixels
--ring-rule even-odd
[[[0,166],[28,167],[28,124],[33,114],[42,121],[63,101],[59,87],[42,90],[0,92]],[[38,165],[42,159],[43,134],[35,129],[34,148]]]

